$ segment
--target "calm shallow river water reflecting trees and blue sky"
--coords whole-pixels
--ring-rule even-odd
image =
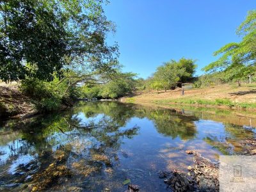
[[[0,191],[168,191],[161,170],[186,172],[185,150],[217,161],[241,154],[255,119],[119,102],[81,102],[67,111],[0,120]],[[170,189],[169,189],[170,190]]]

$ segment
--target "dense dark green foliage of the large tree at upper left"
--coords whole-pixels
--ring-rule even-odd
[[[118,56],[106,36],[115,27],[106,19],[103,1],[9,0],[0,2],[0,79],[26,77],[52,81],[67,66],[109,70]],[[24,65],[26,64],[26,65]]]

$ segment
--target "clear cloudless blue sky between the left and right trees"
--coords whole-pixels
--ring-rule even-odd
[[[116,24],[125,72],[150,76],[164,61],[198,60],[196,75],[216,60],[212,52],[239,41],[236,28],[255,0],[110,0],[105,13]]]

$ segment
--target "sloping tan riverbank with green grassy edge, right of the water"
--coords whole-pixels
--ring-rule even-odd
[[[207,108],[238,109],[256,112],[256,84],[223,84],[207,88],[168,90],[167,92],[135,92],[121,99],[122,102],[138,104],[172,104]]]

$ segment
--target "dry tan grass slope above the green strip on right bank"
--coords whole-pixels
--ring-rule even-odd
[[[215,104],[221,106],[222,102],[229,101],[234,104],[252,104],[256,106],[256,83],[243,84],[236,86],[235,84],[223,84],[220,86],[195,88],[192,90],[185,90],[185,95],[181,95],[180,88],[176,90],[168,90],[167,92],[136,92],[128,98],[124,98],[126,102],[135,103],[186,103],[182,101],[202,100],[202,104]],[[222,100],[221,100],[222,99]],[[193,102],[191,102],[193,104]],[[199,103],[200,104],[200,103]],[[223,104],[224,105],[224,104]],[[254,107],[253,107],[254,108]]]

